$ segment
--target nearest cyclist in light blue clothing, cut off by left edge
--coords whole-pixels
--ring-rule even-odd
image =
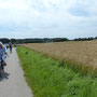
[[[3,60],[3,65],[6,66],[5,58],[6,58],[6,47],[0,42],[0,59]]]

